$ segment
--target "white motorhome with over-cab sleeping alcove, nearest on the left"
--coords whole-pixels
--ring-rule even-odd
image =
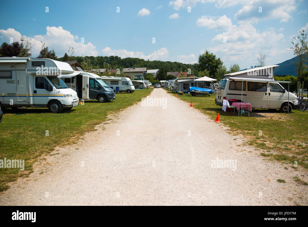
[[[0,57],[0,105],[48,107],[52,113],[78,105],[74,90],[57,78],[71,74],[65,62],[35,57]]]

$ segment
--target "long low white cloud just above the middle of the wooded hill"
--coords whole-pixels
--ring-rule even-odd
[[[102,49],[103,55],[106,56],[119,56],[121,58],[125,57],[138,57],[142,58],[144,60],[150,59],[151,61],[153,60],[164,60],[169,56],[169,51],[167,48],[160,48],[157,51],[154,51],[153,53],[145,56],[143,52],[133,52],[133,51],[127,51],[125,49],[120,49],[120,50],[112,50],[110,47],[106,47]]]

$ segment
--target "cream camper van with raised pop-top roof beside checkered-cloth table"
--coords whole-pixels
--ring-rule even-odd
[[[298,98],[274,80],[274,68],[278,66],[270,65],[226,74],[215,85],[215,103],[222,106],[224,99],[237,99],[238,102],[250,103],[252,108],[280,109],[286,113],[297,109]]]

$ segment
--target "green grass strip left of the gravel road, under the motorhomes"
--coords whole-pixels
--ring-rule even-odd
[[[52,114],[47,108],[26,108],[13,111],[7,108],[0,123],[0,159],[24,159],[25,170],[0,168],[0,191],[6,190],[6,182],[32,171],[32,164],[43,153],[50,153],[56,146],[74,143],[84,133],[95,130],[95,125],[115,113],[141,100],[152,89],[120,93],[115,100],[99,103],[85,101],[71,110]],[[48,130],[49,136],[46,136]]]

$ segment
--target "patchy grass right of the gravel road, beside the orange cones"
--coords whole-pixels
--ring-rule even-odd
[[[175,93],[168,90],[167,92],[175,96]],[[247,144],[265,149],[266,152],[260,153],[262,156],[288,163],[295,169],[297,167],[294,162],[297,161],[298,166],[308,169],[308,111],[292,110],[289,118],[288,114],[280,113],[279,110],[267,109],[253,109],[250,116],[231,116],[230,113],[221,114],[221,106],[215,104],[215,95],[193,97],[184,94],[177,97],[187,103],[192,101],[193,107],[213,120],[219,113],[221,122],[229,127],[232,133],[241,133],[247,138]]]

